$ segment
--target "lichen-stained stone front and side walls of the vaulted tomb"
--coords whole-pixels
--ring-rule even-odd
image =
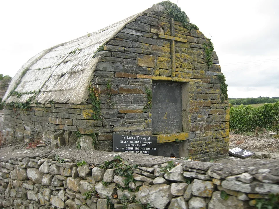
[[[157,135],[158,143],[164,143],[159,146],[165,152],[162,153],[170,156],[169,147],[180,147],[182,150],[175,156],[202,161],[226,156],[229,109],[225,108],[226,101],[220,100],[218,57],[213,52],[215,64],[208,69],[203,46],[209,43],[208,39],[199,30],[190,31],[174,22],[178,41],[175,41],[172,55],[175,59],[172,74],[170,40],[159,38],[171,35],[170,19],[160,15],[138,17],[95,54],[99,63],[92,83],[100,90],[100,120],[93,119],[94,110],[90,104],[33,105],[26,111],[8,107],[5,125],[9,140],[29,141],[43,133],[51,138],[57,130],[65,131],[66,140],[71,131],[80,131],[81,134],[99,134],[97,146],[111,150],[113,133],[152,135],[151,109],[144,108],[148,104],[146,88],[151,89],[152,81],[160,80],[187,84],[189,94],[187,103],[183,104],[183,132]],[[57,138],[53,144],[55,140]],[[181,143],[177,144],[176,140]]]

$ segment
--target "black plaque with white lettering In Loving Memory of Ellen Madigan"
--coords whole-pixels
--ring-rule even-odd
[[[158,155],[156,136],[120,135],[112,136],[113,152],[134,152]]]

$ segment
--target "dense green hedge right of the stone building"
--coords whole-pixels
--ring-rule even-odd
[[[241,105],[230,108],[230,129],[253,131],[256,127],[279,130],[279,102],[261,107]]]

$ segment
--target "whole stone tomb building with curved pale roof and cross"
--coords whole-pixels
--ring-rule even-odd
[[[4,97],[7,140],[43,136],[55,147],[91,134],[88,146],[111,151],[114,133],[155,135],[158,155],[221,158],[229,109],[218,57],[205,50],[211,46],[189,19],[175,21],[159,3],[42,51]]]

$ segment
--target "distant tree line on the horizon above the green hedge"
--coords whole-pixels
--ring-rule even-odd
[[[260,103],[275,103],[279,101],[279,97],[258,97],[258,98],[229,98],[232,105],[251,105]]]

